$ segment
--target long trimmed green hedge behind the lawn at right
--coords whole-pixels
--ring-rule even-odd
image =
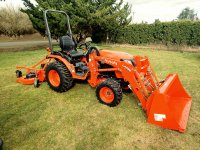
[[[132,24],[118,30],[116,42],[129,44],[200,45],[200,21]]]

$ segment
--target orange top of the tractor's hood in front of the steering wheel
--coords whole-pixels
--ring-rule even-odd
[[[114,58],[114,59],[132,59],[133,56],[125,52],[117,52],[113,50],[100,50],[102,57]]]

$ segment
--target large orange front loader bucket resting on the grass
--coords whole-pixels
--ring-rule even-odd
[[[178,75],[170,74],[147,102],[148,122],[184,132],[192,98],[183,88]]]

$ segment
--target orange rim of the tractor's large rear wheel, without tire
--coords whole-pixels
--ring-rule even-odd
[[[60,76],[56,70],[50,70],[48,76],[49,76],[49,82],[53,86],[58,87],[60,85]]]

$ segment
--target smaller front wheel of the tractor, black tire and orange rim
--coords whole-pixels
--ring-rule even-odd
[[[106,79],[97,85],[96,96],[100,103],[114,107],[122,100],[122,89],[117,81]]]

